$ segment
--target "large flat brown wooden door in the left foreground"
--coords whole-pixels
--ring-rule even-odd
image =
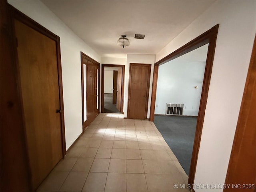
[[[18,76],[22,94],[32,189],[62,158],[56,42],[15,20]]]

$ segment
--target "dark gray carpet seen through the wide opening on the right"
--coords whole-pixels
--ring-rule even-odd
[[[196,122],[197,117],[191,116],[155,115],[154,118],[154,124],[179,160],[187,175],[190,170]]]

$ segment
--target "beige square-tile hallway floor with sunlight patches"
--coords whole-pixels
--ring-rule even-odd
[[[153,122],[100,113],[38,192],[189,192],[188,176]]]

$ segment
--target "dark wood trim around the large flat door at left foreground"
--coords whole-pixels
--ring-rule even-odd
[[[66,154],[66,139],[65,139],[65,122],[64,122],[64,102],[63,102],[63,86],[62,86],[62,66],[61,66],[61,56],[60,56],[60,37],[52,33],[50,30],[46,29],[45,27],[41,26],[38,22],[32,20],[30,17],[26,16],[13,6],[9,5],[10,9],[12,10],[11,18],[12,18],[12,36],[13,36],[13,42],[16,42],[16,36],[15,36],[15,26],[14,26],[14,20],[18,20],[22,22],[23,24],[29,26],[30,28],[36,30],[37,32],[47,36],[48,38],[54,40],[56,42],[56,55],[57,55],[57,68],[58,68],[58,87],[59,87],[59,99],[60,99],[60,123],[61,123],[61,136],[62,136],[62,158],[64,158]],[[16,49],[16,44],[13,44],[13,50],[15,52],[15,63],[16,63],[16,76],[18,78],[18,89],[20,90],[21,82],[20,77],[18,73],[18,52]],[[21,91],[19,91],[20,94],[20,104],[22,106],[22,96]],[[22,112],[22,118],[23,118],[23,125],[25,125],[24,122],[24,114]],[[24,132],[25,134],[25,132]]]

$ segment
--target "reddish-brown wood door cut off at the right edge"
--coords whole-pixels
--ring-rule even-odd
[[[238,117],[224,192],[256,191],[256,37]],[[234,184],[234,185],[232,185]]]

